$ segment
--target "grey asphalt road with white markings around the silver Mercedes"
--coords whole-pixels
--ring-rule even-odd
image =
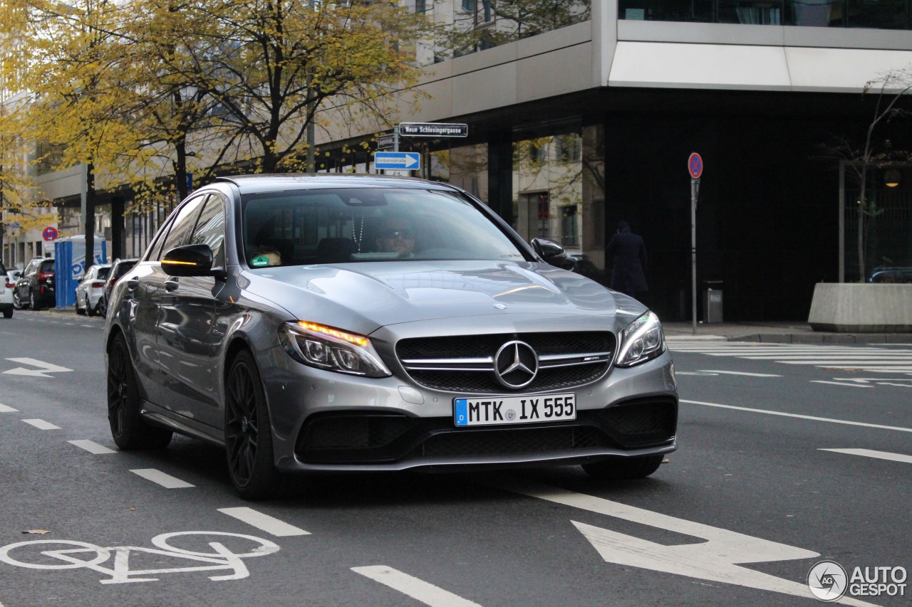
[[[912,344],[674,340],[679,450],[643,480],[362,475],[250,503],[217,448],[117,451],[102,323],[0,321],[4,607],[812,605],[824,560],[906,584],[855,604],[912,604]]]

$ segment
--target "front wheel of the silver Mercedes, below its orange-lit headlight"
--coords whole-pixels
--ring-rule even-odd
[[[280,494],[282,478],[273,459],[263,381],[246,350],[234,357],[225,382],[225,457],[234,490],[242,499]]]

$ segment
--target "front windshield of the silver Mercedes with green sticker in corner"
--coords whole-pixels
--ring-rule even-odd
[[[299,190],[244,197],[251,267],[401,260],[523,261],[523,252],[458,192]]]

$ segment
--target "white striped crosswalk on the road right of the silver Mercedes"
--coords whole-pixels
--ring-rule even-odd
[[[669,341],[672,355],[687,352],[728,356],[745,360],[768,360],[782,365],[811,365],[874,373],[912,375],[912,349],[886,346],[759,344],[706,342],[678,339]]]

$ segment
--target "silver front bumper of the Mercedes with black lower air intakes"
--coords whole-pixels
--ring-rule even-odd
[[[667,352],[632,368],[612,366],[583,386],[539,393],[574,393],[575,420],[496,427],[456,427],[453,399],[477,395],[433,390],[404,373],[372,379],[322,371],[280,347],[259,358],[275,464],[285,471],[571,465],[676,448],[678,393]]]

